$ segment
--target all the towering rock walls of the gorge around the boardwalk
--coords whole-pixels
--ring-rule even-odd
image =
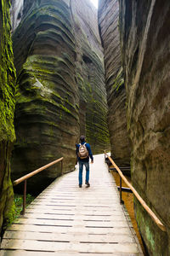
[[[111,149],[130,166],[149,255],[170,255],[169,0],[0,0],[0,228],[14,214],[14,179],[63,156],[75,143]],[[38,193],[60,165],[28,183]],[[38,183],[38,186],[37,186]],[[22,187],[21,187],[22,188]]]

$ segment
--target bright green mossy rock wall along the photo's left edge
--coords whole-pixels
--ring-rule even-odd
[[[14,144],[15,69],[10,35],[9,1],[0,1],[0,233],[13,214],[10,157]]]

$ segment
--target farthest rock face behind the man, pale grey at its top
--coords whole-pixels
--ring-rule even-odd
[[[93,153],[110,147],[106,124],[107,103],[103,49],[97,9],[85,0],[71,1],[77,45],[77,82],[80,97],[80,132],[86,134]]]

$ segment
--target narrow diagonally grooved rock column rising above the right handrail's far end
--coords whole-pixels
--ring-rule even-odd
[[[99,1],[99,31],[105,53],[105,81],[109,106],[111,156],[118,166],[130,165],[126,91],[122,73],[118,0]]]

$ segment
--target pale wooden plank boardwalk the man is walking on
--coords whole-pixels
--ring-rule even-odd
[[[45,189],[5,232],[0,255],[143,255],[104,154],[90,167],[90,188],[78,187],[76,171]]]

